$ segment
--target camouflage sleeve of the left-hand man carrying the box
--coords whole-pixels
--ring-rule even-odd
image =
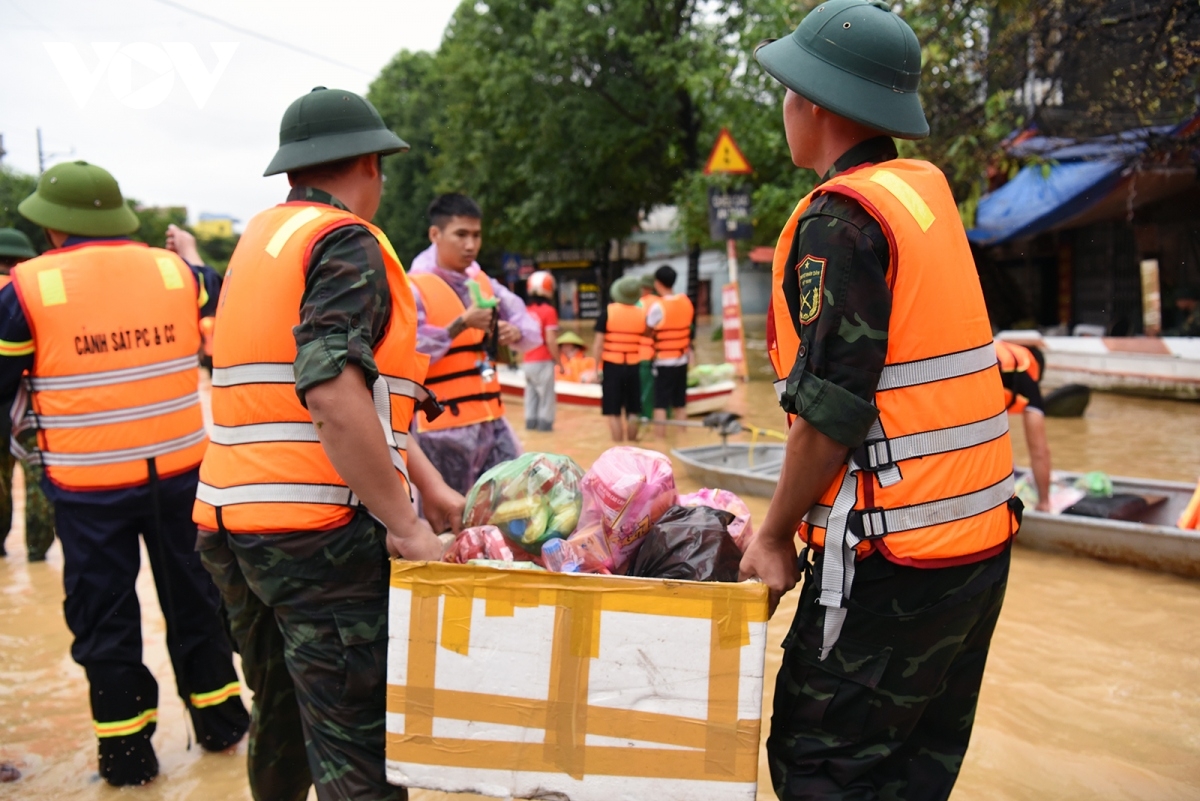
[[[372,348],[391,314],[388,270],[379,243],[361,225],[335,229],[312,251],[300,299],[296,339],[296,395],[358,365],[367,386],[379,377]]]

